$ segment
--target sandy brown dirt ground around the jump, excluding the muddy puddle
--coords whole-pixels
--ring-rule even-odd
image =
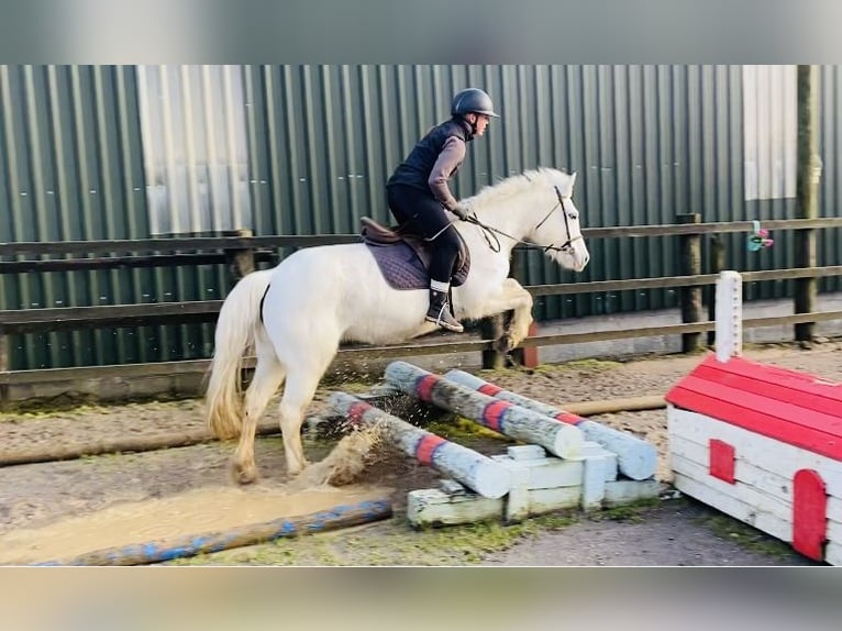
[[[793,345],[753,347],[747,348],[745,355],[824,379],[842,380],[842,343],[839,341],[829,341],[809,351]],[[698,362],[698,356],[586,361],[542,366],[533,372],[508,369],[480,375],[505,389],[563,408],[577,401],[664,395]],[[323,410],[329,391],[320,390],[311,412]],[[263,422],[273,419],[273,408]],[[611,519],[568,514],[564,519],[530,520],[532,523],[520,528],[488,527],[483,536],[468,538],[470,541],[466,540],[461,547],[454,542],[476,529],[459,527],[443,529],[447,531],[445,534],[418,533],[403,517],[407,491],[435,487],[437,473],[397,451],[381,447],[352,490],[388,497],[395,510],[392,519],[330,534],[217,553],[199,562],[528,566],[812,564],[786,546],[776,547],[774,540],[762,533],[669,491],[664,410],[602,414],[594,420],[630,431],[658,450],[657,476],[665,483],[664,500],[658,506]],[[128,435],[189,433],[201,429],[199,400],[3,413],[0,416],[0,460],[48,451],[56,445],[96,444]],[[462,435],[459,442],[487,454],[505,453],[509,444],[481,432]],[[318,462],[334,444],[335,440],[325,440],[312,432],[306,435],[304,449],[310,461]],[[231,443],[208,442],[143,453],[3,466],[0,468],[0,538],[25,534],[128,502],[230,489],[226,465],[232,451]],[[289,481],[282,473],[282,445],[278,436],[258,439],[256,458],[261,480],[243,489],[244,492],[266,492],[282,488]],[[206,510],[213,512],[212,507]],[[489,543],[490,540],[494,541]],[[437,549],[435,541],[439,541]]]

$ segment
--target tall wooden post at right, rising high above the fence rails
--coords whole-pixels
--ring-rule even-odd
[[[818,66],[798,66],[798,175],[796,179],[796,217],[819,217],[818,188],[821,160],[818,154]],[[816,267],[816,230],[795,233],[796,267]],[[794,308],[796,313],[816,310],[817,278],[796,278]],[[815,322],[795,325],[795,339],[804,344],[812,342]]]

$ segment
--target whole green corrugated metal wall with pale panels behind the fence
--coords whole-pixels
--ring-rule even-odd
[[[791,217],[795,67],[0,66],[0,241],[355,232],[389,221],[384,185],[416,140],[481,86],[501,114],[469,148],[458,195],[540,165],[575,170],[588,226]],[[822,69],[821,212],[837,214],[842,78]],[[789,160],[789,162],[787,162]],[[782,197],[783,196],[783,197]],[[831,234],[831,232],[833,234]],[[823,231],[821,264],[839,264]],[[738,269],[790,266],[790,235]],[[676,241],[597,240],[574,277],[524,254],[527,284],[676,273]],[[212,299],[222,270],[1,278],[3,308]],[[784,283],[746,296],[784,296]],[[839,279],[823,283],[839,289]],[[673,291],[547,297],[554,319],[675,305]],[[207,356],[209,326],[22,336],[15,367]]]

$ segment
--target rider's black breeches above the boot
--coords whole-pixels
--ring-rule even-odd
[[[432,239],[430,277],[440,283],[450,283],[453,266],[459,253],[459,237],[442,204],[431,192],[408,186],[390,186],[387,189],[389,210],[398,223],[413,234]]]

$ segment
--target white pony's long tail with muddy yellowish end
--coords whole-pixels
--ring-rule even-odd
[[[240,435],[243,425],[243,356],[262,326],[261,303],[272,269],[244,276],[222,303],[214,333],[213,359],[204,394],[206,427],[219,439]]]

